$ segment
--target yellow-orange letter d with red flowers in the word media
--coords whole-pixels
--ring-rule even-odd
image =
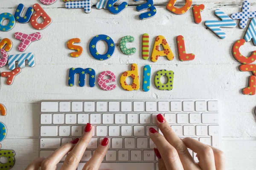
[[[131,77],[133,79],[133,82],[131,85],[128,85],[126,83],[126,78]],[[140,89],[140,79],[139,79],[139,70],[137,64],[131,65],[131,71],[125,71],[121,78],[120,83],[123,89],[126,91],[133,91],[133,90],[139,90]]]

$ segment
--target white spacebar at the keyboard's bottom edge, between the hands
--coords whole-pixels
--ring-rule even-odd
[[[85,163],[79,163],[77,170],[82,170]],[[99,170],[154,170],[154,163],[102,163]]]

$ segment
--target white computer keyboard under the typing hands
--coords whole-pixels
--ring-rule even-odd
[[[158,170],[155,146],[148,136],[150,127],[158,130],[157,114],[166,117],[180,138],[192,137],[220,148],[218,108],[217,100],[203,99],[41,101],[40,157],[79,138],[89,122],[94,134],[78,170],[106,136],[110,145],[100,169]],[[198,161],[192,150],[189,153]]]

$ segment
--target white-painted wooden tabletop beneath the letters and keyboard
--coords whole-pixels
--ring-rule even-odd
[[[120,0],[122,1],[122,0]],[[97,0],[92,0],[95,5]],[[135,3],[127,1],[129,6],[122,13],[114,15],[108,10],[92,8],[90,14],[83,9],[66,9],[62,0],[51,6],[41,6],[52,18],[52,24],[40,31],[43,38],[32,42],[26,52],[35,54],[34,68],[25,67],[15,78],[13,85],[6,85],[6,78],[1,77],[0,103],[7,110],[7,116],[0,116],[0,121],[8,128],[8,136],[1,142],[2,149],[16,152],[16,164],[13,170],[23,170],[30,161],[38,157],[39,136],[39,101],[42,99],[219,99],[221,101],[222,148],[227,157],[227,170],[254,170],[256,167],[256,123],[254,108],[256,96],[247,96],[241,89],[247,87],[249,72],[239,71],[239,62],[234,59],[231,48],[236,40],[244,37],[246,29],[223,28],[227,38],[219,39],[206,29],[205,20],[217,20],[214,10],[221,8],[226,14],[241,11],[242,0],[194,0],[193,4],[204,3],[203,22],[194,23],[192,10],[184,15],[175,15],[166,10],[166,0],[154,0],[157,15],[148,20],[140,20]],[[179,0],[177,5],[182,5]],[[14,14],[19,3],[26,8],[39,0],[4,0],[0,5],[0,13]],[[256,10],[256,0],[250,0],[251,10]],[[236,20],[238,23],[238,20]],[[249,24],[249,22],[247,23]],[[14,44],[11,54],[19,54],[17,46],[20,41],[14,39],[14,33],[26,34],[37,32],[30,23],[16,23],[9,32],[0,32],[0,37],[10,38]],[[151,36],[151,49],[154,38],[163,35],[169,42],[175,59],[168,61],[161,57],[157,62],[143,60],[142,34]],[[128,47],[136,47],[137,54],[126,56],[119,47],[111,59],[98,61],[89,52],[90,40],[97,34],[107,34],[116,45],[122,37],[131,35],[135,42]],[[185,37],[186,50],[196,55],[195,60],[180,62],[177,57],[176,37]],[[84,53],[79,58],[70,57],[67,41],[71,38],[81,39]],[[104,43],[100,42],[101,47]],[[100,49],[104,52],[104,48]],[[253,43],[246,43],[241,48],[244,55],[255,50]],[[98,76],[102,71],[113,71],[119,77],[123,71],[129,70],[132,63],[139,65],[140,77],[146,64],[152,66],[154,75],[160,69],[175,71],[174,90],[160,91],[151,83],[151,89],[143,92],[125,91],[118,84],[114,91],[102,91],[98,85],[81,88],[78,85],[69,87],[67,76],[69,68],[94,68]],[[7,67],[0,71],[8,71]],[[151,78],[153,80],[153,78]],[[141,79],[142,81],[142,79]]]

